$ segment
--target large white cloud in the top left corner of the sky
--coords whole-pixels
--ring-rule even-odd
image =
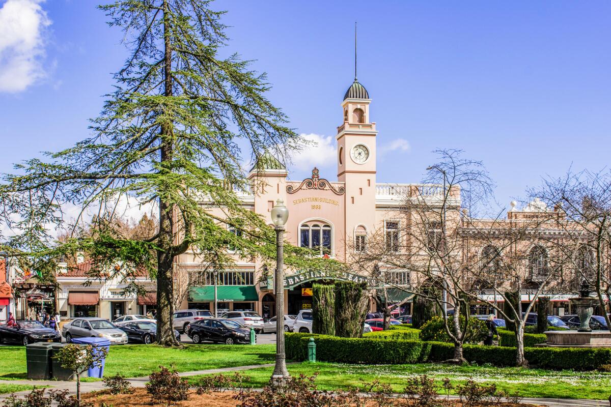
[[[43,0],[7,0],[0,9],[0,92],[21,92],[42,79],[45,32],[51,24]]]

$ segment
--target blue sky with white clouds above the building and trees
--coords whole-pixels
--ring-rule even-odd
[[[89,134],[121,33],[93,1],[0,0],[0,172]],[[437,148],[485,162],[508,206],[544,175],[607,165],[611,2],[218,1],[230,51],[257,59],[291,126],[320,148],[297,157],[335,179],[335,127],[353,81],[378,125],[378,182],[418,182]],[[24,9],[23,9],[24,8]],[[23,10],[22,10],[23,9]],[[25,10],[25,12],[24,12]],[[23,27],[11,31],[15,15]],[[3,23],[4,22],[4,23]],[[10,37],[10,36],[13,37]],[[4,39],[2,39],[4,38]],[[20,65],[22,64],[22,65]],[[409,146],[409,148],[408,148]],[[394,149],[393,149],[394,147]],[[316,162],[323,160],[323,162]]]

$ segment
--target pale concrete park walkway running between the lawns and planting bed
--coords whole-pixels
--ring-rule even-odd
[[[240,370],[255,369],[257,367],[273,367],[273,363],[262,364],[262,365],[249,365],[249,366],[236,366],[236,367],[224,367],[222,369],[208,369],[208,370],[194,370],[193,372],[181,372],[178,373],[181,377],[198,376],[198,375],[210,375],[227,372],[239,372]],[[134,377],[129,378],[131,386],[133,387],[144,387],[148,382],[148,376],[146,377]],[[51,389],[57,390],[68,390],[70,394],[76,392],[75,381],[60,381],[60,380],[0,380],[0,384],[28,384],[30,386],[49,386]],[[88,393],[92,391],[104,390],[103,381],[85,381],[81,382],[81,392]],[[16,395],[26,395],[30,391],[17,392]],[[3,402],[10,394],[0,394],[0,402]],[[444,396],[445,397],[445,396]],[[450,398],[458,398],[456,396],[450,396]],[[524,398],[522,403],[535,404],[547,407],[610,407],[608,400],[582,400],[582,399],[569,399],[569,398]]]

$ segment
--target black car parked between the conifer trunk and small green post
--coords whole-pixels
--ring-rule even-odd
[[[250,344],[251,330],[231,319],[214,318],[191,322],[188,336],[194,344],[219,342],[221,344]]]

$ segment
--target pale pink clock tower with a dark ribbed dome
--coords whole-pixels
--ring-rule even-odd
[[[376,209],[376,124],[370,120],[371,99],[354,77],[342,102],[343,124],[337,128],[337,179],[345,185],[346,240],[374,231]],[[348,243],[348,242],[346,242]],[[346,247],[352,245],[346,244]],[[348,250],[348,249],[346,249]],[[346,258],[349,253],[346,253]]]

